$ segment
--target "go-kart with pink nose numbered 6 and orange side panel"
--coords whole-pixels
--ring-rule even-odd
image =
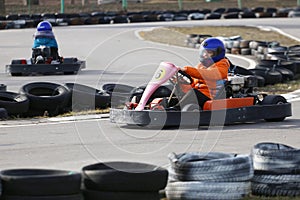
[[[260,119],[276,122],[292,115],[291,104],[283,96],[257,94],[254,92],[256,78],[238,74],[229,74],[228,80],[218,86],[219,97],[206,101],[203,107],[187,104],[178,108],[176,105],[184,95],[182,85],[190,83],[190,77],[179,67],[162,62],[146,88],[140,93],[132,92],[125,105],[110,109],[110,121],[149,127],[201,126]],[[170,85],[173,88],[165,92]],[[162,91],[161,96],[158,91]]]

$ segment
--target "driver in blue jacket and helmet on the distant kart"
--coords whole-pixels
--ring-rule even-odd
[[[37,48],[39,46],[50,47],[51,57],[53,60],[60,59],[58,55],[58,44],[52,31],[52,25],[48,21],[40,22],[37,25],[36,32],[34,33],[32,48]]]

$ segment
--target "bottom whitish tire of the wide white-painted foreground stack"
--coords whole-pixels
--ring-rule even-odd
[[[240,200],[250,194],[247,182],[171,182],[166,187],[168,200]]]

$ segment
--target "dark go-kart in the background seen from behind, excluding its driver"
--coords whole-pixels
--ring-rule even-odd
[[[14,59],[10,65],[6,65],[6,72],[12,76],[28,76],[34,74],[77,74],[85,68],[85,61],[75,57],[54,58],[51,48],[40,46],[32,49],[32,57],[29,59]]]

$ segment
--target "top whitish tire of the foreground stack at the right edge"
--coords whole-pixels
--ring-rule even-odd
[[[300,174],[300,149],[263,142],[253,146],[251,156],[256,173]]]

